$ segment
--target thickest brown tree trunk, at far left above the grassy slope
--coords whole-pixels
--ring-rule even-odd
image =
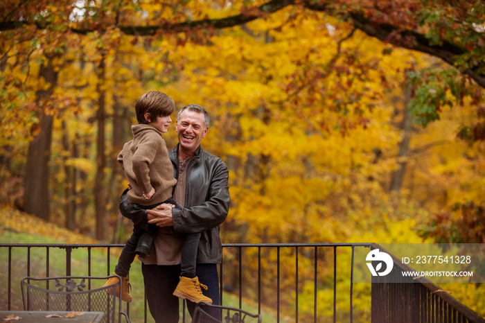
[[[58,82],[58,71],[52,65],[53,57],[39,70],[39,78],[44,78],[48,89],[36,92],[36,101],[39,106],[40,132],[35,135],[28,145],[28,155],[24,178],[24,207],[23,210],[33,213],[39,218],[49,220],[49,159],[51,157],[51,139],[53,116],[44,113],[44,105],[53,94]]]

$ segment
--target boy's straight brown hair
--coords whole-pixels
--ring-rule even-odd
[[[138,123],[148,124],[145,113],[155,122],[159,116],[170,116],[175,110],[175,102],[170,96],[160,91],[148,91],[139,97],[134,105]]]

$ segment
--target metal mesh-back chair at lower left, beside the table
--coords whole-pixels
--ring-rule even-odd
[[[117,277],[118,282],[111,286],[103,286],[107,279]],[[118,288],[118,297],[114,291]],[[114,323],[118,317],[124,316],[130,322],[128,315],[121,311],[121,277],[24,277],[21,280],[24,311],[69,311],[69,312],[103,312],[103,322]],[[117,315],[116,315],[117,314]]]

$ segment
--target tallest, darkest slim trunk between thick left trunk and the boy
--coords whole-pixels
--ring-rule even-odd
[[[105,114],[106,114],[106,91],[102,89],[105,79],[105,59],[99,64],[98,85],[96,91],[98,98],[98,139],[97,139],[97,157],[96,157],[96,182],[94,183],[94,204],[96,212],[96,239],[103,241],[106,231],[106,200],[105,200]]]

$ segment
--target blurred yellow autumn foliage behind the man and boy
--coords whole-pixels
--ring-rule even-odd
[[[128,1],[119,26],[223,18],[265,1],[183,2]],[[63,17],[56,6],[47,11],[59,26],[86,22]],[[87,22],[97,24],[95,19]],[[12,31],[15,42],[0,33],[1,48],[10,51],[1,65],[0,156],[12,159],[11,171],[1,168],[2,180],[21,176],[28,143],[41,131],[42,114],[51,114],[52,200],[67,202],[63,189],[72,183],[64,168],[69,168],[82,174],[76,191],[87,192],[73,198],[93,204],[90,189],[100,184],[94,181],[101,159],[96,140],[103,98],[103,184],[107,195],[119,195],[116,190],[125,183],[116,174],[116,145],[131,139],[136,98],[159,90],[177,108],[197,103],[211,116],[202,146],[222,157],[230,172],[232,200],[222,224],[223,243],[421,242],[414,229],[431,213],[485,195],[484,144],[467,146],[455,139],[459,126],[476,118],[468,99],[460,107],[443,107],[441,121],[426,129],[413,128],[409,152],[398,155],[405,137],[400,121],[406,71],[432,66],[435,62],[426,55],[359,31],[346,38],[351,26],[301,6],[217,32],[208,28],[139,37],[118,28],[96,29],[103,31],[64,35],[26,27],[22,33],[30,35],[28,42],[17,41],[24,39],[20,32]],[[59,55],[51,58],[52,52]],[[48,62],[59,74],[53,95],[44,102],[38,91],[52,85],[39,73]],[[114,124],[115,116],[123,119],[124,134],[115,128],[121,126]],[[177,141],[174,128],[164,134],[169,148]],[[389,192],[394,171],[404,163],[400,192]],[[105,206],[111,223],[114,203]],[[2,227],[68,241],[67,231],[46,229],[42,220],[11,209],[1,211]],[[285,256],[282,268],[289,277],[293,267]],[[274,261],[275,254],[267,259]],[[307,262],[302,257],[303,265]],[[288,287],[288,281],[282,283]],[[310,289],[303,286],[303,293]],[[318,294],[319,302],[328,302],[327,297]],[[367,317],[364,304],[357,306]]]

